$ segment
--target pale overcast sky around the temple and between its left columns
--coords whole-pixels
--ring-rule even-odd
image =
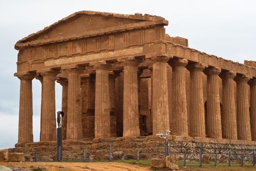
[[[18,51],[23,37],[81,11],[152,14],[169,21],[166,33],[188,39],[189,47],[243,63],[256,61],[255,0],[0,0],[0,149],[18,141]],[[33,80],[33,132],[39,141],[41,84]],[[56,84],[56,110],[61,86]]]

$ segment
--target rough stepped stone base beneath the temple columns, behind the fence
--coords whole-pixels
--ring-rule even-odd
[[[256,150],[255,141],[192,138],[184,136],[167,137],[169,153],[180,157],[186,152],[194,153],[200,149],[210,154],[251,154]],[[56,161],[57,142],[34,142],[16,144],[16,152],[23,152],[27,157],[33,158],[37,151],[38,161]],[[63,160],[82,161],[83,150],[86,151],[86,160],[109,159],[109,148],[112,147],[113,159],[136,159],[137,150],[140,159],[164,158],[164,140],[158,136],[140,136],[134,138],[112,137],[95,138],[92,141],[63,141]],[[30,157],[29,157],[30,156]]]

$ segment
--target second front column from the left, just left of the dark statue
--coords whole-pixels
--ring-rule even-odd
[[[41,141],[56,141],[55,77],[56,72],[42,72]]]

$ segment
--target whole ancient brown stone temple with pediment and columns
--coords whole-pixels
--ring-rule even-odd
[[[42,84],[40,141],[56,141],[55,84],[64,140],[173,136],[256,141],[256,63],[170,37],[163,17],[80,11],[15,44],[18,143],[33,142],[32,80]]]

